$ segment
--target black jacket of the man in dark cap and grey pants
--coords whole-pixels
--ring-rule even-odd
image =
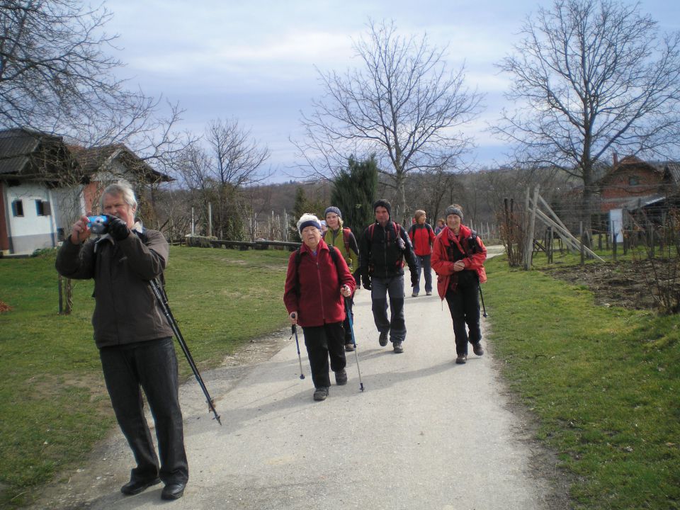
[[[416,259],[409,234],[399,226],[397,229],[392,220],[385,228],[375,222],[369,225],[361,234],[359,240],[359,267],[361,277],[392,278],[404,274],[404,259],[409,265],[411,273],[415,274]]]

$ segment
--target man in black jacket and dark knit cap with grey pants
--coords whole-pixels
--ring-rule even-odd
[[[392,206],[384,198],[373,203],[375,223],[359,239],[359,267],[366,290],[370,290],[373,320],[380,331],[380,346],[392,342],[395,353],[404,352],[404,259],[411,271],[411,286],[416,285],[418,268],[407,232],[392,221]],[[390,319],[387,319],[387,297]]]

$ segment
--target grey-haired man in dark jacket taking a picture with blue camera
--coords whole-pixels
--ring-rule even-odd
[[[135,222],[137,200],[127,184],[108,186],[101,209],[103,235],[88,241],[93,224],[82,216],[57,255],[57,271],[67,278],[94,278],[94,340],[116,419],[137,463],[120,492],[139,494],[164,482],[162,499],[179,499],[188,463],[177,358],[172,329],[149,287],[149,280],[163,277],[168,243],[161,232]],[[142,389],[154,416],[160,465]]]

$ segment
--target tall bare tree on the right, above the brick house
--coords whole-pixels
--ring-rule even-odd
[[[608,152],[667,154],[680,138],[680,35],[659,36],[638,4],[558,0],[528,17],[515,54],[499,64],[517,101],[492,131],[516,158],[555,166],[584,185],[590,231],[598,162]]]

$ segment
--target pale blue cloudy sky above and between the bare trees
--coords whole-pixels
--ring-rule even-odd
[[[352,40],[369,18],[392,19],[402,35],[427,33],[447,46],[449,69],[465,63],[466,82],[487,108],[468,132],[477,164],[503,161],[483,132],[499,117],[507,79],[494,67],[511,52],[526,16],[548,2],[528,0],[107,0],[125,74],[149,96],[179,102],[182,130],[202,133],[212,119],[235,117],[271,150],[275,181],[298,175],[300,111],[321,95],[315,67],[353,67]],[[640,2],[662,30],[680,30],[680,1]]]

